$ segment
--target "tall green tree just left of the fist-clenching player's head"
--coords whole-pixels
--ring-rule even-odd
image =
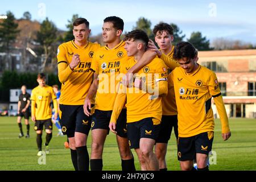
[[[47,60],[55,57],[56,54],[56,42],[57,42],[57,28],[55,24],[46,18],[40,24],[40,31],[37,34],[36,42],[40,43],[40,47],[43,49],[43,64],[41,71],[43,72]]]

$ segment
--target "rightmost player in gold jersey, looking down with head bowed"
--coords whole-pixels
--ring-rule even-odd
[[[171,72],[179,113],[177,158],[181,170],[195,170],[193,159],[196,159],[197,170],[208,171],[214,131],[212,97],[220,115],[222,138],[228,140],[231,136],[218,80],[213,71],[197,64],[197,51],[191,43],[178,43],[174,59],[180,64]]]

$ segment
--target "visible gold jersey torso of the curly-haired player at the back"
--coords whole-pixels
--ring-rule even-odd
[[[163,54],[163,53],[162,53]],[[172,46],[172,50],[167,56],[171,59],[174,55],[174,46]],[[175,64],[174,68],[179,67],[179,64]],[[168,93],[167,96],[164,96],[162,99],[163,104],[163,115],[177,115],[177,106],[175,101],[175,93],[174,93],[174,86],[170,84],[171,82],[171,68],[167,68],[168,72]]]

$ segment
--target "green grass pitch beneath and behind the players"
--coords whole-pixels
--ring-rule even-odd
[[[232,137],[223,141],[221,138],[220,121],[216,119],[212,150],[216,154],[212,159],[215,164],[210,170],[256,170],[256,120],[255,119],[229,119]],[[23,132],[26,125],[22,121]],[[34,123],[30,121],[30,138],[18,138],[19,128],[16,117],[0,117],[0,170],[43,170],[59,171],[73,170],[70,150],[64,148],[67,137],[57,137],[57,129],[53,125],[53,137],[49,144],[50,154],[46,156],[46,164],[39,164],[36,147],[36,133]],[[43,143],[46,134],[43,133]],[[88,138],[88,151],[90,153],[91,138]],[[44,147],[43,147],[44,150]],[[168,170],[179,171],[179,162],[176,156],[176,141],[174,133],[168,144],[167,165]],[[135,157],[135,166],[140,169],[138,158]],[[216,159],[214,161],[214,159]],[[104,170],[121,170],[121,159],[117,148],[115,135],[110,133],[106,139],[103,153]]]

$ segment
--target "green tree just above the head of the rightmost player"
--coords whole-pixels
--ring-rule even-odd
[[[201,32],[192,32],[191,36],[189,39],[187,39],[188,42],[193,44],[196,49],[199,51],[209,51],[212,50],[210,48],[210,41],[207,40],[207,38],[202,36]]]

